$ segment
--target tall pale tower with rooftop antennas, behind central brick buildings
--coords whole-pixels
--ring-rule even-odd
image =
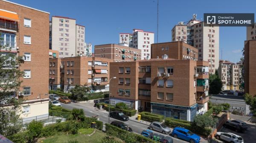
[[[204,22],[192,20],[187,24],[179,22],[172,28],[172,41],[185,41],[198,48],[198,60],[209,62],[209,72],[214,73],[219,65],[219,27],[204,26]]]

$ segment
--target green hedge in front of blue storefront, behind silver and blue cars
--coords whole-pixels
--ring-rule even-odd
[[[191,122],[189,121],[184,121],[184,120],[179,120],[179,119],[174,119],[174,118],[165,118],[165,124],[166,126],[175,128],[175,127],[183,127],[186,129],[189,129],[190,131],[203,135],[203,136],[208,136],[212,133],[212,129],[210,128],[201,128],[198,126],[193,126]]]

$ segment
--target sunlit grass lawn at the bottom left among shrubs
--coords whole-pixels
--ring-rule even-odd
[[[42,143],[67,143],[68,140],[78,140],[79,143],[101,143],[103,137],[106,136],[106,133],[101,132],[96,129],[95,134],[92,136],[85,136],[81,134],[76,135],[66,135],[64,132],[58,132],[52,137],[47,137],[43,139]],[[38,140],[38,143],[41,143],[41,140]]]

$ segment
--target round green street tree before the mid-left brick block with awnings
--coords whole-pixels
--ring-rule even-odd
[[[91,90],[91,87],[76,85],[75,88],[71,89],[71,97],[74,100],[81,101],[84,96]]]

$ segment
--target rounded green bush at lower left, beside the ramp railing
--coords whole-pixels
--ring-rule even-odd
[[[41,123],[40,121],[32,121],[29,123],[27,130],[28,142],[36,143],[38,138],[41,136],[43,130],[43,123]]]

